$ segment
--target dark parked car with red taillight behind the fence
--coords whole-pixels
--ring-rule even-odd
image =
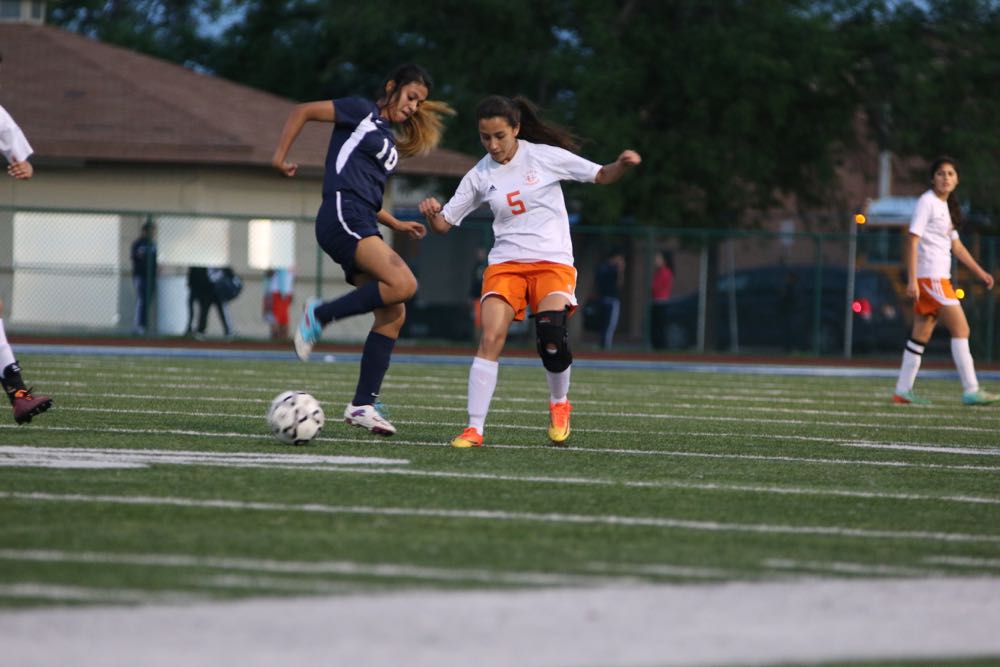
[[[819,303],[819,349],[844,349],[847,271],[824,267]],[[737,340],[741,348],[777,347],[812,350],[817,269],[814,266],[763,267],[719,277],[715,304],[716,344],[730,346],[731,294],[735,294]],[[852,348],[857,351],[898,350],[906,338],[899,296],[884,273],[855,272]],[[667,303],[667,345],[687,348],[697,340],[698,293]]]

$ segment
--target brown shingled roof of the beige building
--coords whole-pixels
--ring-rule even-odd
[[[0,23],[0,104],[38,158],[264,167],[295,102],[46,25]],[[322,169],[330,126],[309,123],[290,159]],[[397,173],[461,176],[447,149]]]

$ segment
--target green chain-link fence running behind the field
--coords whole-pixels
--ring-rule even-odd
[[[420,219],[416,211],[396,214]],[[133,266],[132,244],[150,223],[156,230],[155,266]],[[585,315],[570,320],[575,347],[600,346],[606,309],[596,298],[597,268],[609,253],[620,251],[625,264],[613,349],[897,355],[912,322],[899,257],[904,228],[808,233],[795,231],[788,222],[780,229],[574,226],[576,294]],[[471,283],[477,251],[492,245],[490,221],[472,218],[449,234],[428,234],[420,241],[388,235],[387,240],[420,283],[408,304],[404,338],[471,345],[476,337]],[[973,256],[994,275],[996,241],[965,239]],[[672,267],[673,285],[669,300],[654,303],[657,254]],[[218,270],[226,268],[242,283],[238,294],[228,300],[206,296],[198,276],[210,270],[221,275]],[[312,218],[0,207],[0,298],[11,331],[138,334],[137,340],[284,338],[264,309],[269,277],[276,270],[293,277],[293,325],[307,298],[331,298],[351,289],[340,267],[318,249]],[[148,279],[135,280],[137,275]],[[956,266],[953,282],[964,290],[974,354],[994,359],[1000,350],[994,293],[972,280],[964,267]],[[148,304],[144,330],[143,301]],[[370,316],[351,318],[327,337],[360,341],[370,325]],[[533,345],[530,324],[516,324],[510,339]],[[935,334],[934,350],[947,351],[946,332]]]

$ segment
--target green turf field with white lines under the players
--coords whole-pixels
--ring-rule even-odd
[[[453,450],[464,363],[395,363],[384,439],[340,419],[353,362],[21,361],[56,408],[0,425],[8,612],[1000,575],[1000,406],[957,380],[913,408],[886,378],[578,367],[556,448],[541,367],[504,365],[487,446]],[[326,410],[308,446],[267,430],[285,389]],[[960,657],[837,664],[997,664]]]

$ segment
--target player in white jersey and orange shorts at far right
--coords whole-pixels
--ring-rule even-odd
[[[931,165],[931,183],[931,189],[917,200],[904,249],[908,276],[906,295],[914,299],[914,319],[892,400],[896,403],[930,404],[930,401],[913,393],[913,383],[920,369],[924,347],[940,320],[951,332],[951,356],[962,381],[962,402],[966,405],[987,405],[1000,400],[1000,396],[979,388],[969,352],[969,322],[951,286],[952,255],[969,267],[987,289],[993,289],[993,276],[979,266],[958,238],[956,228],[962,224],[962,211],[955,199],[955,188],[958,187],[955,160],[948,157],[935,160]]]

